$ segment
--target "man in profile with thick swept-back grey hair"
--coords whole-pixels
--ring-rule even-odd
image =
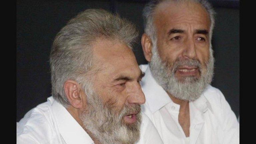
[[[161,144],[141,114],[136,36],[133,24],[105,10],[71,19],[51,49],[52,97],[17,123],[17,143]]]

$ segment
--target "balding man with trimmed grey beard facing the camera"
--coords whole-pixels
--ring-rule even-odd
[[[210,85],[214,10],[205,0],[152,0],[143,10],[143,111],[165,144],[237,144],[239,123]]]

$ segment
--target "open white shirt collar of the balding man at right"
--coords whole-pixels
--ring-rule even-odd
[[[146,97],[146,102],[148,103],[148,106],[152,113],[161,109],[168,103],[172,103],[172,105],[175,106],[178,105],[171,100],[167,92],[155,81],[151,74],[149,66],[145,70],[145,76],[142,78],[141,86]],[[211,86],[209,85],[204,90],[203,94],[197,100],[192,102],[196,106],[196,108],[202,113],[206,112],[208,108],[212,111],[209,101],[204,96],[210,87]]]

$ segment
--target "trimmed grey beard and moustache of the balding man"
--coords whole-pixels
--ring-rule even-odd
[[[156,82],[163,87],[165,91],[170,93],[177,99],[194,101],[198,99],[207,85],[209,85],[213,78],[214,58],[213,51],[210,45],[209,61],[206,64],[206,69],[198,60],[178,60],[171,64],[168,61],[161,60],[157,48],[152,49],[152,60],[149,63],[150,71]],[[196,66],[201,72],[200,78],[185,77],[184,80],[177,80],[174,76],[175,71],[179,66]]]

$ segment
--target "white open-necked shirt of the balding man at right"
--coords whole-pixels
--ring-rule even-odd
[[[190,136],[186,138],[178,122],[180,105],[175,104],[157,84],[148,65],[140,65],[145,76],[142,90],[143,112],[155,125],[164,144],[238,144],[239,123],[220,90],[208,86],[200,98],[189,102]]]

